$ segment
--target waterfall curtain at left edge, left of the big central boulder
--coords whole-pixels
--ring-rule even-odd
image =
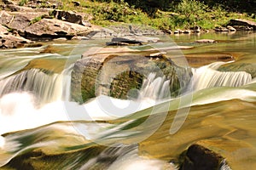
[[[7,77],[0,81],[0,97],[13,92],[28,92],[36,97],[39,104],[68,99],[72,67],[61,74],[31,69]]]

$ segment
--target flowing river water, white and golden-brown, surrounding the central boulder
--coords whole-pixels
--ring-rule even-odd
[[[208,37],[219,42],[193,43]],[[161,38],[151,48],[175,45]],[[83,105],[70,99],[73,63],[108,40],[1,51],[1,168],[177,169],[177,156],[195,143],[224,156],[232,169],[256,167],[256,80],[247,67],[256,68],[256,34],[172,39],[194,47],[166,53],[192,67],[183,94],[171,97],[170,80],[152,72],[137,99],[100,95]]]

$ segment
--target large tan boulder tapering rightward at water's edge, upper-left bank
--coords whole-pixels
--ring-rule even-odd
[[[26,37],[34,40],[58,37],[71,39],[74,36],[86,36],[91,31],[95,31],[95,29],[56,19],[39,20],[37,23],[25,29]]]

